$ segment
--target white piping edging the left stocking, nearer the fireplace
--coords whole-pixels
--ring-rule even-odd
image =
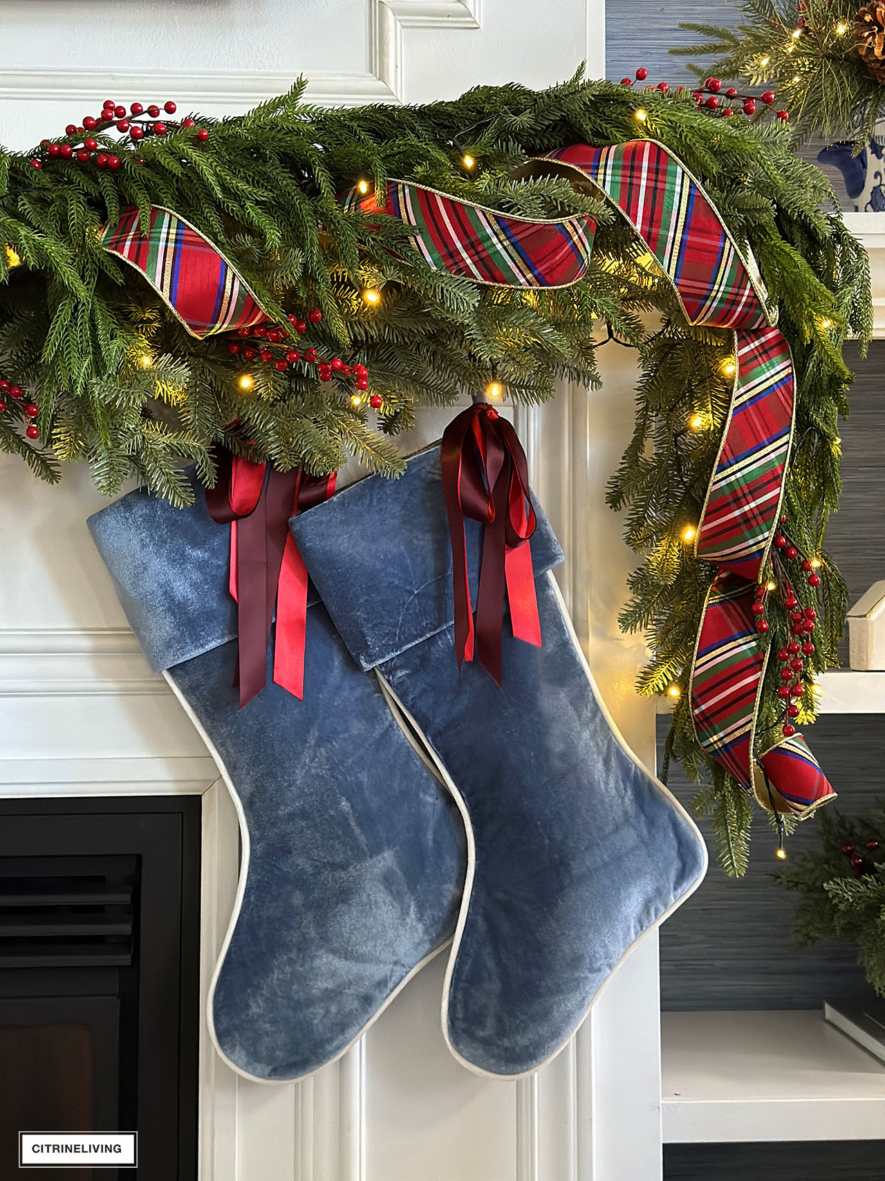
[[[408,981],[414,976],[418,976],[418,973],[421,971],[422,967],[425,967],[427,964],[430,964],[430,961],[432,959],[435,959],[437,955],[439,955],[440,952],[445,951],[445,948],[448,947],[448,945],[451,944],[452,940],[451,939],[445,939],[439,945],[439,947],[434,947],[434,950],[432,952],[430,952],[427,955],[425,955],[424,959],[419,960],[418,964],[415,964],[415,966],[409,972],[407,972],[406,976],[402,977],[402,979],[396,985],[396,987],[392,992],[389,992],[387,994],[387,997],[384,1000],[384,1003],[381,1005],[379,1005],[379,1007],[375,1010],[375,1012],[372,1014],[372,1017],[366,1022],[366,1024],[362,1026],[362,1029],[359,1031],[359,1033],[356,1033],[356,1036],[353,1037],[347,1043],[347,1045],[343,1046],[343,1049],[339,1050],[337,1053],[334,1057],[329,1058],[327,1062],[323,1062],[320,1066],[316,1066],[314,1070],[309,1070],[309,1071],[307,1071],[306,1074],[302,1074],[302,1075],[293,1075],[289,1078],[261,1078],[258,1075],[250,1075],[248,1070],[243,1070],[242,1066],[238,1066],[235,1062],[231,1062],[231,1059],[227,1056],[227,1053],[224,1052],[224,1050],[218,1044],[218,1037],[217,1037],[216,1031],[215,1031],[215,1020],[214,1020],[214,1017],[212,1017],[212,1010],[214,1010],[214,1000],[215,1000],[215,988],[216,988],[216,985],[218,983],[218,977],[221,974],[221,970],[222,970],[222,966],[224,964],[224,959],[225,959],[225,957],[228,954],[228,947],[230,946],[230,941],[234,938],[234,931],[236,929],[237,921],[240,919],[240,911],[242,909],[242,906],[243,906],[243,896],[245,895],[245,881],[247,881],[247,877],[249,875],[249,852],[250,852],[250,846],[249,846],[249,828],[247,827],[247,823],[245,823],[245,813],[243,810],[243,804],[242,804],[242,802],[240,800],[237,790],[234,787],[234,781],[231,779],[230,775],[228,774],[228,769],[224,765],[224,761],[222,759],[221,755],[218,753],[218,751],[217,751],[217,749],[215,746],[215,743],[211,740],[211,738],[209,737],[209,735],[205,732],[205,729],[203,727],[203,723],[199,720],[199,718],[197,717],[197,715],[194,712],[194,710],[192,710],[192,707],[190,705],[190,702],[186,699],[186,697],[184,697],[184,694],[179,690],[178,685],[175,683],[175,678],[170,674],[170,670],[169,668],[164,668],[163,670],[163,676],[165,677],[166,681],[169,683],[169,686],[172,690],[172,692],[175,693],[175,696],[178,698],[178,700],[179,700],[179,703],[182,705],[182,709],[188,715],[188,717],[190,718],[190,720],[194,723],[197,732],[199,733],[199,737],[203,739],[203,742],[209,748],[209,753],[215,759],[216,765],[218,768],[218,771],[221,772],[221,777],[224,779],[224,784],[225,784],[228,791],[230,792],[230,798],[231,798],[231,801],[234,803],[234,808],[236,809],[237,823],[240,824],[240,840],[242,842],[242,849],[243,849],[242,859],[241,859],[241,862],[240,862],[240,876],[238,876],[238,880],[237,880],[237,892],[236,892],[236,898],[234,900],[234,911],[232,911],[232,913],[230,915],[230,922],[228,924],[228,929],[227,929],[227,932],[224,934],[224,941],[222,942],[221,951],[218,952],[218,959],[217,959],[217,963],[215,965],[215,971],[212,972],[212,978],[211,978],[211,980],[209,983],[209,994],[206,997],[206,1024],[208,1024],[208,1027],[209,1027],[209,1037],[211,1039],[212,1045],[215,1046],[215,1050],[216,1050],[218,1057],[222,1059],[222,1062],[227,1066],[229,1066],[235,1074],[242,1075],[243,1078],[248,1078],[248,1079],[250,1079],[254,1083],[267,1083],[269,1087],[276,1087],[277,1084],[281,1084],[281,1083],[296,1083],[296,1082],[301,1082],[301,1079],[303,1079],[303,1078],[312,1078],[315,1074],[317,1074],[317,1071],[322,1070],[324,1066],[328,1066],[333,1062],[337,1062],[339,1058],[342,1058],[347,1053],[348,1050],[353,1049],[353,1046],[360,1040],[360,1038],[362,1037],[362,1035],[375,1024],[375,1022],[378,1020],[378,1018],[381,1016],[381,1013],[385,1011],[385,1009],[387,1009],[387,1006],[391,1004],[391,1001],[393,1000],[393,998],[406,987],[406,985],[408,984]],[[414,737],[406,731],[406,729],[402,725],[402,722],[399,718],[396,718],[395,711],[392,710],[391,713],[393,715],[394,720],[396,720],[396,724],[400,726],[400,729],[402,730],[402,732],[406,735],[406,738],[408,738],[409,744],[417,750]],[[427,756],[426,755],[421,755],[421,758],[422,758],[424,762],[427,761]],[[435,768],[433,768],[432,770],[434,771],[434,774],[437,774]]]

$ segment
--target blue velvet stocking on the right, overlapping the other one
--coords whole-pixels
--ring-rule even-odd
[[[697,829],[596,696],[550,573],[559,547],[536,511],[543,647],[514,640],[505,621],[502,689],[455,661],[438,448],[401,479],[371,477],[290,523],[352,655],[389,685],[461,808],[467,886],[444,1026],[466,1065],[505,1077],[564,1045],[707,863]]]

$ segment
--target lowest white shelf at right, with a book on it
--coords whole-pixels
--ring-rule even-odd
[[[661,1014],[668,1144],[885,1138],[885,1064],[819,1010]]]

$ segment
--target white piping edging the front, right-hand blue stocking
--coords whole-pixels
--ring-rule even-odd
[[[577,638],[577,635],[575,633],[575,625],[572,624],[571,616],[569,615],[569,612],[568,612],[568,609],[565,607],[565,601],[563,600],[562,592],[559,590],[557,581],[553,578],[552,570],[548,570],[546,579],[549,580],[549,582],[553,587],[553,592],[556,594],[556,601],[559,605],[559,612],[560,612],[560,614],[563,616],[563,620],[565,622],[565,627],[566,627],[569,638],[571,639],[572,646],[573,646],[575,651],[578,654],[581,664],[582,664],[582,666],[584,668],[584,673],[586,674],[588,683],[590,685],[590,691],[594,694],[594,698],[596,700],[597,706],[602,711],[602,716],[604,717],[605,722],[609,724],[609,727],[611,729],[611,732],[614,733],[615,738],[621,744],[621,748],[624,751],[624,753],[632,761],[632,763],[636,766],[640,768],[640,770],[642,770],[645,775],[649,776],[649,778],[651,779],[653,785],[655,788],[657,788],[657,790],[661,792],[661,795],[664,796],[666,800],[669,801],[669,803],[676,809],[676,811],[688,823],[689,828],[694,829],[694,833],[697,836],[697,840],[699,840],[699,842],[701,844],[701,848],[703,850],[703,868],[702,868],[702,872],[695,879],[695,881],[688,887],[688,889],[686,889],[683,894],[681,894],[662,914],[660,914],[657,916],[657,919],[655,919],[655,921],[653,924],[650,924],[648,927],[645,927],[645,929],[640,935],[637,935],[637,938],[630,944],[630,946],[623,953],[623,955],[621,957],[621,959],[617,961],[617,964],[614,965],[614,967],[608,973],[608,976],[603,980],[603,983],[599,985],[599,987],[596,990],[596,992],[594,993],[594,996],[590,998],[590,1003],[588,1004],[586,1009],[584,1010],[584,1013],[581,1017],[581,1020],[576,1023],[575,1027],[571,1030],[571,1032],[565,1038],[565,1040],[559,1046],[557,1046],[557,1049],[553,1050],[553,1052],[551,1055],[549,1055],[543,1062],[538,1063],[537,1066],[532,1066],[531,1070],[523,1070],[523,1071],[520,1071],[520,1072],[518,1072],[516,1075],[497,1075],[497,1074],[493,1074],[490,1070],[483,1070],[480,1066],[474,1065],[472,1062],[468,1062],[466,1058],[464,1058],[458,1052],[458,1050],[455,1050],[455,1048],[452,1045],[452,1039],[451,1039],[450,1030],[448,1030],[448,996],[450,996],[450,990],[451,990],[451,985],[452,985],[452,976],[454,973],[454,964],[455,964],[455,960],[458,958],[458,951],[459,951],[460,945],[461,945],[461,938],[464,935],[464,927],[465,927],[465,924],[467,921],[467,911],[470,909],[470,899],[471,899],[471,894],[472,894],[472,890],[473,890],[473,875],[474,875],[474,869],[476,869],[476,840],[474,840],[474,836],[473,836],[473,826],[471,824],[470,813],[467,811],[467,805],[464,802],[464,797],[461,796],[460,791],[455,787],[455,784],[454,784],[451,775],[446,770],[446,766],[442,763],[441,758],[437,755],[437,752],[434,751],[432,744],[427,739],[427,736],[424,733],[424,731],[418,725],[418,723],[415,722],[415,719],[412,717],[412,715],[405,707],[405,705],[402,704],[402,702],[400,702],[400,699],[396,697],[396,694],[394,693],[394,691],[391,687],[391,685],[379,673],[379,680],[381,681],[382,686],[386,689],[386,691],[394,699],[394,702],[396,703],[396,706],[402,711],[402,713],[405,715],[405,717],[408,718],[411,725],[414,726],[415,733],[419,733],[421,736],[422,740],[426,743],[427,750],[430,751],[432,758],[437,763],[437,766],[439,769],[439,774],[440,774],[440,776],[442,778],[442,782],[446,784],[446,787],[448,788],[448,790],[452,792],[452,797],[453,797],[455,804],[458,805],[458,810],[461,814],[461,817],[464,820],[464,827],[465,827],[465,830],[467,833],[467,876],[466,876],[466,881],[464,883],[464,896],[461,899],[461,908],[460,908],[460,912],[458,914],[458,925],[457,925],[455,931],[454,931],[454,939],[452,940],[452,948],[451,948],[451,951],[448,953],[448,964],[446,965],[446,976],[445,976],[445,980],[444,980],[444,984],[442,984],[442,1005],[441,1005],[442,1036],[446,1039],[446,1045],[448,1046],[452,1056],[458,1062],[460,1062],[460,1064],[463,1066],[466,1066],[467,1070],[472,1070],[474,1075],[480,1075],[483,1078],[498,1078],[498,1079],[506,1081],[506,1082],[512,1082],[516,1078],[527,1078],[530,1075],[533,1075],[542,1066],[546,1065],[549,1062],[552,1062],[552,1059],[565,1049],[565,1046],[569,1044],[569,1042],[575,1036],[576,1031],[579,1029],[579,1026],[586,1019],[588,1013],[590,1012],[590,1010],[592,1009],[592,1006],[596,1004],[596,1001],[598,1000],[598,998],[602,996],[604,988],[607,987],[607,985],[609,984],[609,981],[611,980],[611,978],[615,976],[615,973],[617,972],[618,967],[621,967],[621,965],[624,963],[624,960],[627,959],[627,957],[630,954],[630,952],[635,947],[637,947],[643,941],[643,939],[645,939],[649,934],[651,934],[653,931],[656,931],[661,926],[661,924],[664,922],[673,914],[674,911],[676,911],[680,906],[682,906],[682,903],[686,901],[686,899],[690,898],[691,894],[694,894],[694,892],[697,889],[697,887],[703,881],[704,875],[707,873],[707,867],[708,867],[707,846],[704,844],[703,837],[701,836],[701,831],[697,828],[697,826],[695,824],[694,820],[691,818],[691,816],[689,815],[689,813],[686,811],[686,809],[682,807],[682,804],[678,802],[678,800],[673,795],[673,792],[669,791],[664,787],[664,784],[661,783],[660,779],[657,779],[655,776],[650,775],[648,768],[642,762],[640,762],[640,759],[636,757],[636,755],[634,753],[634,751],[630,750],[630,748],[628,746],[627,742],[624,740],[623,735],[621,733],[621,731],[618,730],[617,725],[615,724],[615,719],[611,717],[611,713],[609,712],[609,709],[605,705],[605,702],[602,699],[602,697],[599,696],[599,693],[596,690],[596,681],[594,680],[594,674],[590,671],[590,665],[588,664],[586,657],[584,655],[584,650],[581,647],[581,644],[578,642],[578,638]],[[375,670],[375,671],[378,672],[378,670]]]

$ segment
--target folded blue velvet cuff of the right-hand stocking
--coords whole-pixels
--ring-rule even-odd
[[[563,560],[532,498],[535,576]],[[439,446],[413,456],[399,479],[369,476],[289,522],[320,598],[362,668],[399,655],[454,619],[452,550]],[[466,523],[476,603],[481,527]]]

